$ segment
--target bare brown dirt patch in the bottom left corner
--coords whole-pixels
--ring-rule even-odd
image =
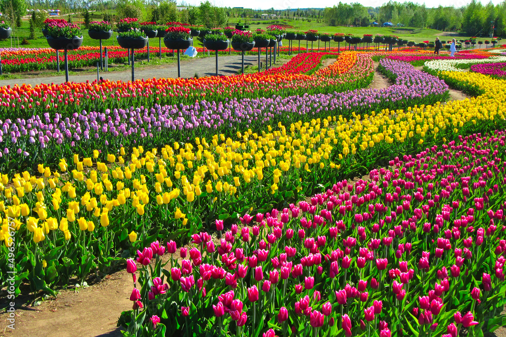
[[[15,330],[7,328],[6,314],[0,315],[0,335],[120,337],[116,324],[122,311],[132,309],[132,276],[122,270],[107,278],[79,292],[62,291],[36,307],[18,307]]]

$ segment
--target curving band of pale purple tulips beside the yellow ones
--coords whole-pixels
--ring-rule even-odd
[[[370,76],[373,71],[370,58],[359,56],[358,60],[357,67],[352,68],[351,72],[358,78]],[[364,60],[363,65],[360,60]],[[19,158],[21,153],[31,158],[30,154],[38,152],[41,160],[51,163],[55,161],[53,152],[38,151],[37,148],[49,147],[56,150],[59,158],[62,155],[68,158],[73,147],[86,149],[92,143],[94,146],[130,147],[135,141],[151,147],[157,143],[212,136],[216,132],[230,135],[247,128],[261,130],[264,123],[285,124],[306,121],[314,116],[335,116],[336,113],[350,115],[354,111],[364,113],[431,104],[445,99],[448,87],[436,77],[397,61],[385,59],[380,65],[395,78],[395,85],[380,90],[358,89],[332,94],[224,102],[202,100],[190,105],[155,105],[150,109],[107,109],[103,113],[83,111],[71,118],[65,118],[62,114],[37,115],[26,120],[6,120],[0,129],[0,144],[8,150],[4,151],[4,159]],[[366,73],[359,76],[359,70]],[[81,142],[86,146],[80,145]]]

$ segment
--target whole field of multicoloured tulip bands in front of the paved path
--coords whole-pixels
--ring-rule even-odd
[[[125,336],[494,331],[504,51],[332,49],[230,77],[2,87],[0,284],[57,296],[126,262]],[[370,88],[375,71],[391,85]]]

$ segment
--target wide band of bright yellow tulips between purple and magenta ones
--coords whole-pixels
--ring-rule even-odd
[[[504,89],[504,81],[480,76],[492,82],[479,82],[486,90]],[[261,134],[238,133],[235,140],[216,134],[161,151],[134,149],[130,157],[123,150],[101,155],[96,148],[89,157],[62,160],[59,170],[41,165],[38,177],[3,174],[2,238],[9,243],[7,219],[15,218],[21,275],[16,286],[27,279],[34,289],[51,292],[51,284],[65,283],[72,274],[83,279],[97,267],[106,269],[125,249],[132,252],[169,234],[184,240],[216,218],[235,218],[250,209],[265,212],[269,205],[308,195],[321,181],[363,172],[393,153],[506,127],[502,112],[487,100],[353,114],[351,121],[340,116],[286,127],[279,123],[274,129],[267,124],[268,133],[264,126]],[[480,110],[472,108],[482,102]],[[104,156],[104,161],[95,159]],[[130,247],[124,242],[129,233]],[[0,249],[7,256],[7,247]]]

